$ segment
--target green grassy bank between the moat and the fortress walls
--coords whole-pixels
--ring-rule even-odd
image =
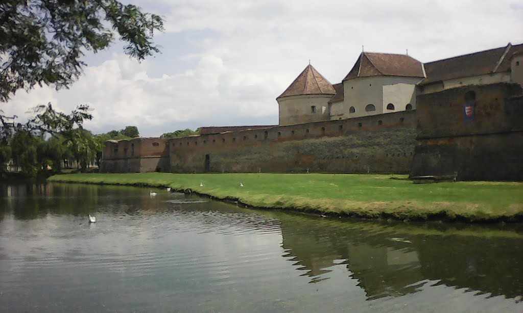
[[[523,183],[414,185],[410,180],[391,177],[406,178],[406,175],[133,173],[56,175],[49,180],[190,189],[256,208],[366,218],[523,219]]]

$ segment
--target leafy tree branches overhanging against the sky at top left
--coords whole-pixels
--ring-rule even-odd
[[[86,65],[84,51],[106,49],[116,33],[142,61],[160,52],[152,39],[163,29],[162,17],[116,0],[2,0],[0,102],[35,85],[67,87]]]

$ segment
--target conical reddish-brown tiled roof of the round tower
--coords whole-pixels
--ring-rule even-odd
[[[331,83],[309,64],[301,74],[294,79],[291,85],[276,99],[288,97],[290,95],[335,93],[336,90],[334,90]]]

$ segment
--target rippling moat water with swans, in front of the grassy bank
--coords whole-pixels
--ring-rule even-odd
[[[523,310],[521,224],[331,219],[153,191],[1,185],[0,311]]]

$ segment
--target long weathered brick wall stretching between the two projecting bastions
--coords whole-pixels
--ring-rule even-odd
[[[170,172],[408,173],[416,111],[169,140]]]

